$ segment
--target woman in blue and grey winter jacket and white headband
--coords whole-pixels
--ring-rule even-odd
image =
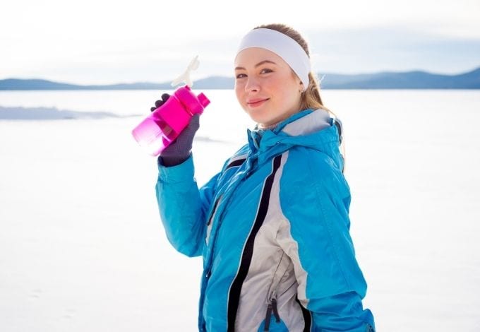
[[[191,156],[198,116],[159,158],[167,237],[203,255],[200,331],[374,331],[349,236],[341,126],[323,107],[306,42],[285,25],[255,28],[235,77],[258,123],[248,143],[200,189]]]

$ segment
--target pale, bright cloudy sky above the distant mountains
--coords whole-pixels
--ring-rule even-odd
[[[480,66],[479,0],[17,0],[0,12],[0,79],[76,84],[233,76],[236,47],[256,25],[285,23],[309,42],[317,73]]]

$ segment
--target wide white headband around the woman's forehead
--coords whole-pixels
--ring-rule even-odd
[[[304,90],[308,87],[308,73],[310,73],[310,58],[304,49],[294,39],[282,32],[272,29],[253,29],[241,40],[236,54],[250,47],[260,47],[281,57],[299,76],[304,83]]]

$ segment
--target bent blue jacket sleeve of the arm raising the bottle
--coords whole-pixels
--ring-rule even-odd
[[[192,156],[172,167],[159,164],[158,169],[157,203],[167,239],[182,254],[200,256],[205,240],[205,215],[220,173],[198,189]]]

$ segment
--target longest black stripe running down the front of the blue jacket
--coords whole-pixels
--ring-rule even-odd
[[[253,256],[253,242],[255,242],[257,232],[258,230],[260,230],[260,227],[265,220],[265,216],[267,215],[268,202],[270,201],[270,192],[272,191],[273,179],[275,177],[275,173],[280,167],[281,160],[282,155],[277,155],[277,157],[273,159],[272,172],[265,179],[263,191],[260,196],[260,206],[258,207],[258,212],[255,218],[255,222],[253,223],[252,230],[246,240],[244,252],[241,255],[239,271],[236,273],[236,277],[234,278],[234,281],[230,286],[230,292],[228,297],[228,332],[235,331],[235,319],[236,312],[239,309],[241,286],[244,284],[244,280],[248,273],[248,268],[250,268],[250,263]]]

